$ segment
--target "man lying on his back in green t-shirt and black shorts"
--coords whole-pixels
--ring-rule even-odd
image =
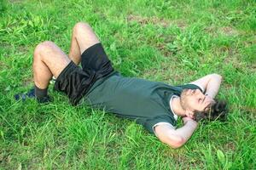
[[[80,62],[82,68],[78,66]],[[211,74],[182,86],[170,86],[122,77],[114,71],[91,27],[81,22],[73,27],[68,56],[54,42],[38,44],[33,76],[35,87],[26,94],[16,94],[16,99],[49,102],[47,88],[54,76],[55,90],[67,94],[73,105],[83,100],[86,105],[134,119],[172,148],[185,144],[195,131],[198,124],[195,113],[219,109],[214,97],[222,79],[218,74]],[[176,128],[177,116],[183,117],[183,127]]]

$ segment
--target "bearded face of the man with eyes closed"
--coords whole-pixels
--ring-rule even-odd
[[[184,89],[181,94],[181,105],[183,109],[191,112],[207,111],[212,99],[202,94],[199,89]]]

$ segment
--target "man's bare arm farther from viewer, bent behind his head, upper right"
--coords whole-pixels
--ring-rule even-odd
[[[195,84],[204,91],[205,95],[214,99],[218,94],[218,89],[220,87],[222,81],[222,77],[218,74],[209,74],[205,77],[201,77],[200,79],[190,82],[191,84]]]

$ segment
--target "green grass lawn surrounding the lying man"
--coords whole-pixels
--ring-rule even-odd
[[[49,105],[15,102],[33,85],[35,46],[68,53],[78,21],[127,77],[177,85],[222,75],[228,122],[201,124],[173,150],[135,122],[69,105],[52,85]],[[254,0],[0,0],[0,169],[255,169],[255,33]]]

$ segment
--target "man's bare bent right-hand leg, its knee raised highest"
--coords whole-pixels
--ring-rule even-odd
[[[90,46],[100,42],[92,28],[84,22],[79,22],[73,27],[69,58],[76,65],[81,61],[81,54]]]

